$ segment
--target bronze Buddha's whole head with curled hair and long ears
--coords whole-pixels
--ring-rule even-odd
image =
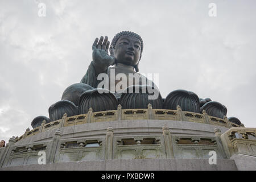
[[[143,40],[141,36],[134,32],[122,31],[114,36],[110,53],[115,57],[116,63],[133,66],[136,72],[143,51]]]

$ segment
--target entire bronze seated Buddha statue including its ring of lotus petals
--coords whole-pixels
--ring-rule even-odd
[[[108,36],[94,40],[92,62],[80,83],[64,90],[61,101],[49,107],[49,118],[37,117],[32,126],[61,119],[64,114],[71,117],[92,111],[115,110],[120,104],[123,109],[176,110],[203,113],[224,118],[226,107],[208,98],[199,97],[187,90],[174,90],[163,99],[154,82],[138,73],[142,57],[143,40],[130,31],[116,34],[110,44]],[[132,92],[130,92],[132,91]],[[200,101],[201,100],[201,101]],[[233,119],[233,120],[232,120]],[[237,118],[230,120],[240,123]]]

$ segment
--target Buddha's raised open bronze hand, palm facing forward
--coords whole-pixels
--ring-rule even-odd
[[[109,45],[108,36],[105,39],[101,36],[100,40],[96,38],[93,43],[93,65],[97,74],[105,72],[110,65],[115,64],[114,57],[109,55]]]

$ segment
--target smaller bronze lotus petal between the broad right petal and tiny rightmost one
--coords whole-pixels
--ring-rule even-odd
[[[227,113],[226,107],[216,101],[207,102],[201,107],[200,110],[201,113],[203,113],[203,110],[205,110],[208,115],[212,115],[213,117],[221,119],[224,119],[224,116]]]

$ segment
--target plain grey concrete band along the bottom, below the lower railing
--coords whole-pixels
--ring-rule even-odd
[[[32,164],[24,166],[4,167],[0,170],[14,171],[236,171],[234,160],[217,159],[217,164],[210,165],[208,159],[114,159],[89,160],[86,162]]]

